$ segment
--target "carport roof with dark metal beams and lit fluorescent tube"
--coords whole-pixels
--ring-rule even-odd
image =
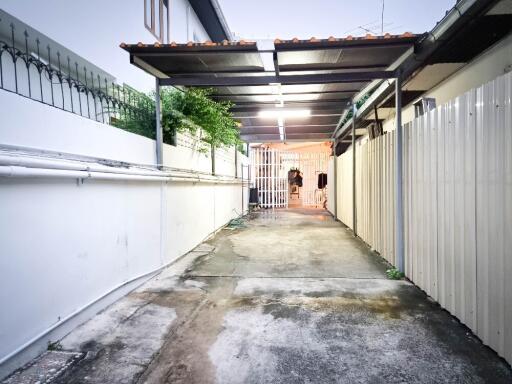
[[[331,138],[354,95],[372,80],[396,77],[388,68],[421,36],[121,47],[161,85],[209,87],[215,99],[233,102],[245,141],[314,141]]]

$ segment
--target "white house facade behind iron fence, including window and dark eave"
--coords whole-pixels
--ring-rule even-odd
[[[127,54],[118,48],[121,42],[230,37],[216,1],[91,0],[77,7],[72,1],[48,0],[27,7],[26,2],[5,0],[1,9],[110,73],[119,84],[139,91],[153,89],[154,81],[130,65]]]

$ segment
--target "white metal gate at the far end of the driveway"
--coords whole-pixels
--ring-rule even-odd
[[[329,154],[280,151],[274,148],[252,148],[250,155],[251,181],[258,188],[261,207],[288,207],[288,171],[292,168],[299,169],[302,173],[302,205],[308,207],[323,206],[326,189],[318,188],[318,175],[327,173]]]

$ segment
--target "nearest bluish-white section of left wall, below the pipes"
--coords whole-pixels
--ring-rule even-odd
[[[0,358],[161,265],[161,183],[0,178]],[[142,257],[144,256],[144,257]]]

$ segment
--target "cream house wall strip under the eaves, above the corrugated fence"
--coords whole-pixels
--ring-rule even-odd
[[[479,87],[511,70],[512,34],[483,52],[439,85],[430,89],[423,97],[435,98],[436,105],[442,105],[458,95]],[[414,120],[414,107],[409,105],[402,110],[402,122],[407,123],[412,120]],[[383,123],[383,127],[385,131],[395,129],[394,111]]]

